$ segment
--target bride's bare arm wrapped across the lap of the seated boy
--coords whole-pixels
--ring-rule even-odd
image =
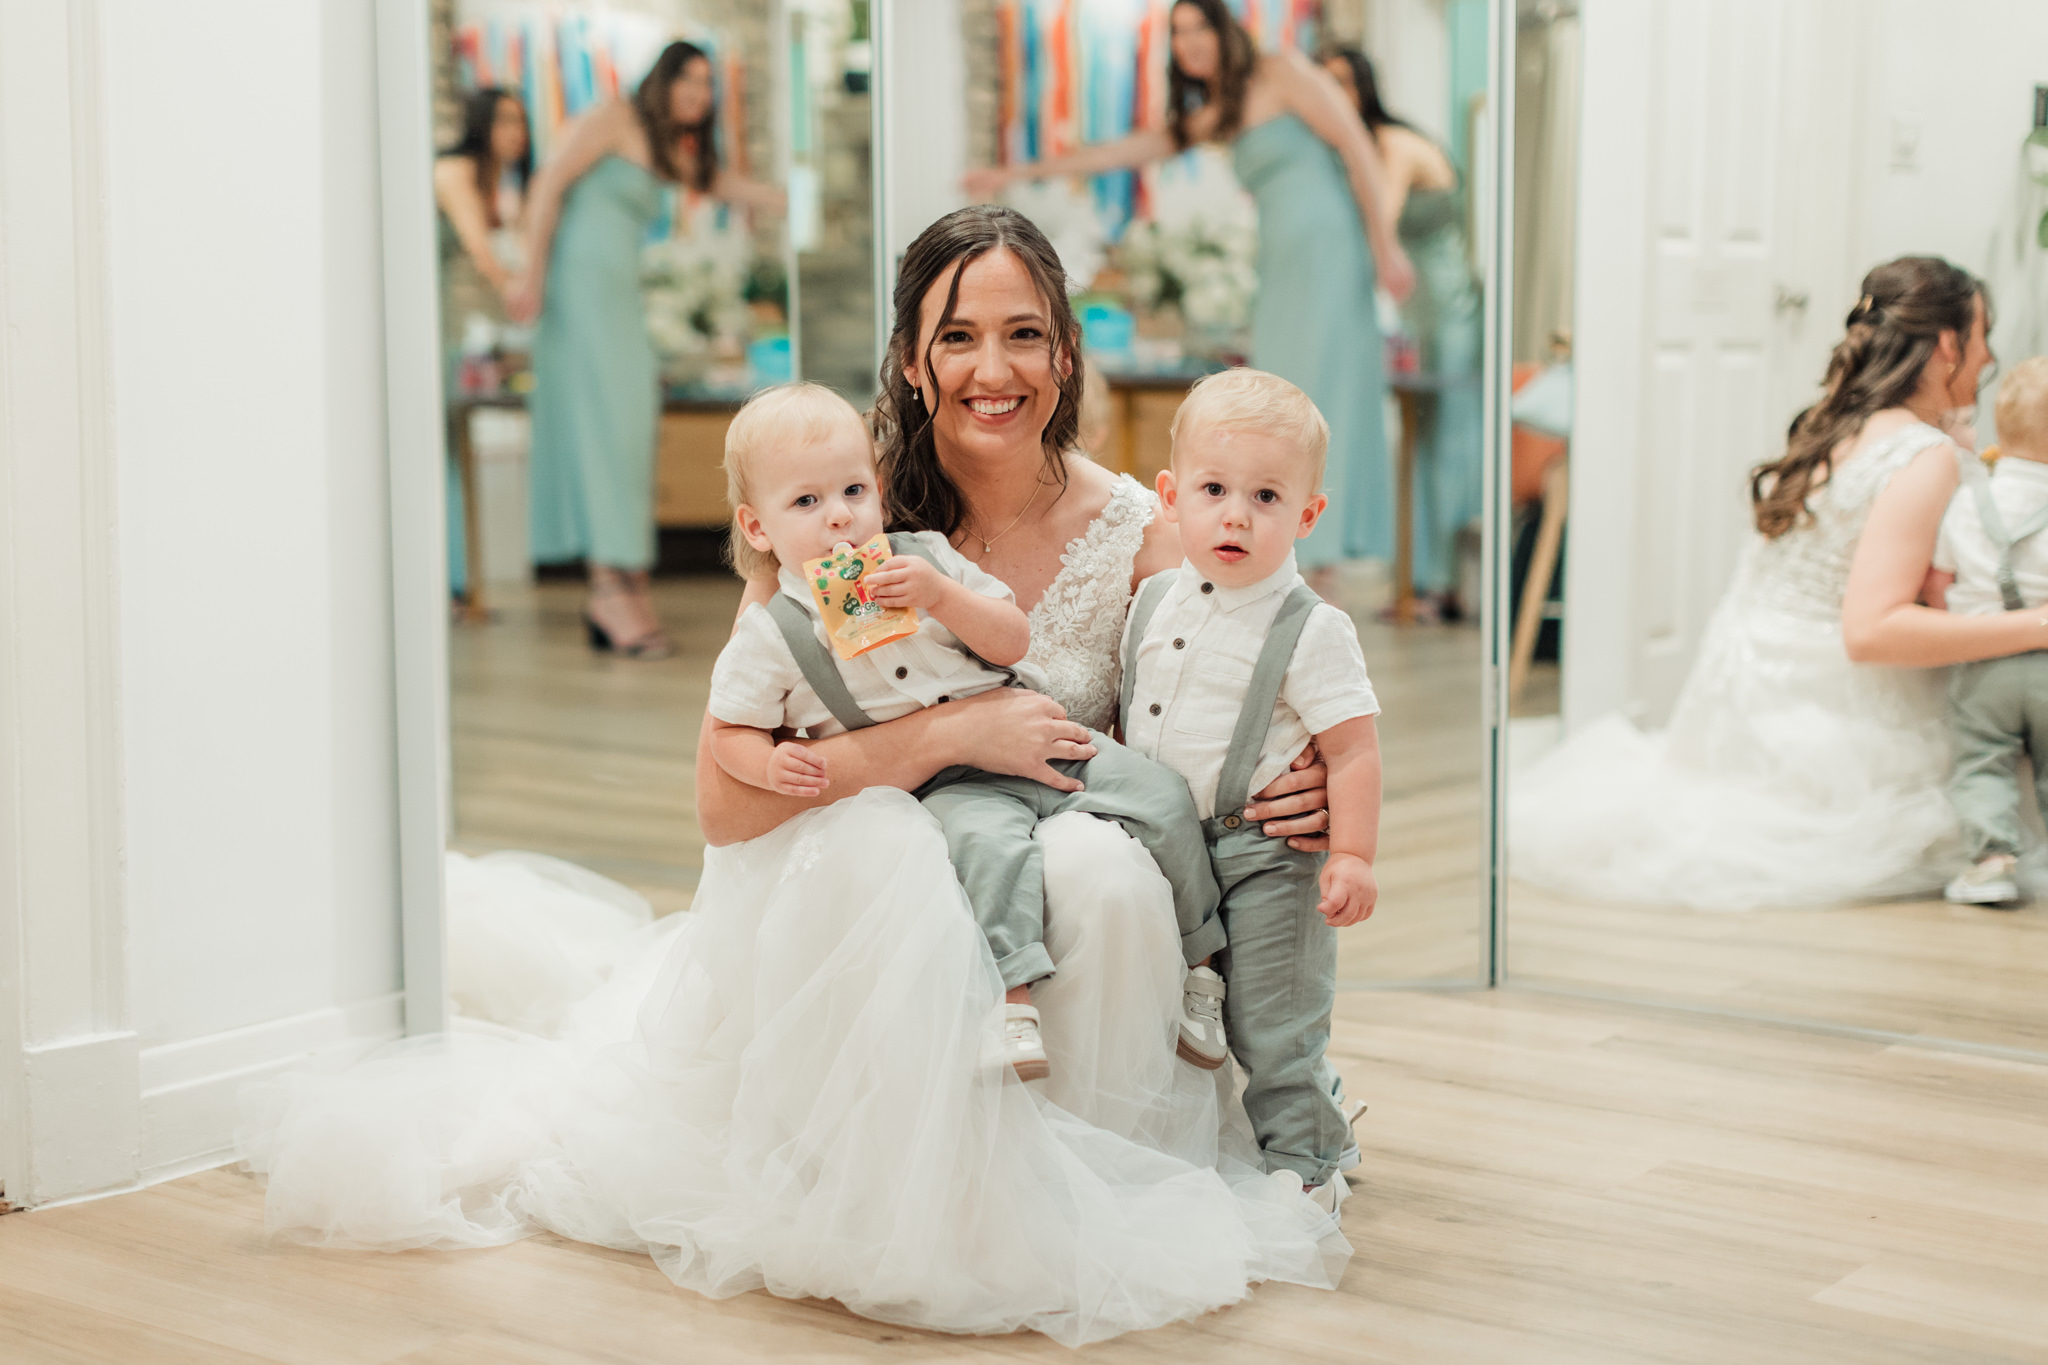
[[[750,583],[739,610],[764,602],[768,591],[766,585]],[[1087,731],[1067,720],[1059,702],[1022,688],[995,688],[887,724],[799,743],[809,743],[831,774],[831,786],[819,796],[780,796],[733,778],[711,753],[711,716],[705,716],[696,735],[696,825],[707,843],[756,839],[793,814],[870,786],[913,792],[954,763],[1032,778],[1071,792],[1079,782],[1049,763],[1096,755]]]

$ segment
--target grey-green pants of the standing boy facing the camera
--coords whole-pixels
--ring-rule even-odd
[[[1268,1171],[1282,1166],[1321,1185],[1352,1146],[1323,1054],[1337,1005],[1337,931],[1317,913],[1321,853],[1300,853],[1260,825],[1206,821],[1223,890],[1229,948],[1217,970],[1229,982],[1223,1023],[1245,1072],[1245,1117]]]

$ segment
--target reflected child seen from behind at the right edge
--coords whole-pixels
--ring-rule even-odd
[[[1999,385],[1999,460],[1964,456],[1962,487],[1942,518],[1933,587],[1950,612],[1987,616],[2048,602],[2048,356]],[[1970,868],[1948,884],[1958,905],[2017,905],[2019,755],[2048,814],[2048,653],[1958,663],[1948,684],[1956,769],[1948,794]]]

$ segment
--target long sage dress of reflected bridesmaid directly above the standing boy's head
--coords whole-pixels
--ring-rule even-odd
[[[1335,149],[1294,115],[1237,135],[1237,180],[1260,213],[1251,364],[1300,387],[1329,422],[1329,514],[1296,546],[1303,569],[1393,557],[1386,346],[1372,250]]]

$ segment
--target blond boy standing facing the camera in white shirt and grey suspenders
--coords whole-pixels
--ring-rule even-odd
[[[1262,370],[1200,381],[1174,415],[1159,501],[1186,563],[1139,585],[1124,626],[1124,743],[1188,780],[1223,890],[1229,948],[1208,986],[1245,1068],[1266,1169],[1335,1214],[1350,1130],[1321,1078],[1337,929],[1378,884],[1380,706],[1358,630],[1294,569],[1323,508],[1329,426]],[[1315,737],[1329,765],[1329,853],[1243,817]]]

